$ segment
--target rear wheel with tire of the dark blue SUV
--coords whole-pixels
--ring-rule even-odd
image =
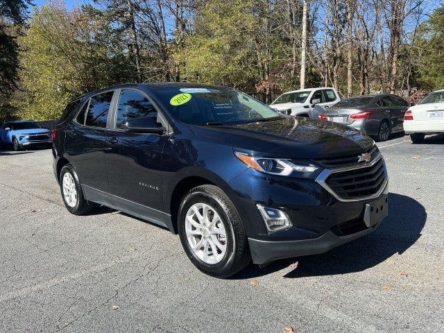
[[[60,193],[67,210],[74,215],[85,215],[96,206],[83,196],[83,189],[78,180],[76,171],[71,164],[65,165],[60,171]]]

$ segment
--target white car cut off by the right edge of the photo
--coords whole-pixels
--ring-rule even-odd
[[[404,132],[414,144],[426,134],[444,133],[444,90],[432,92],[405,112]]]

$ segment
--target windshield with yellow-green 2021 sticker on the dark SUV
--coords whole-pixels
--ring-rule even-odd
[[[281,117],[267,105],[235,89],[160,87],[154,92],[174,118],[190,125],[230,125]]]

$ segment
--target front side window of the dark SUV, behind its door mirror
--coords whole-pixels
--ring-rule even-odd
[[[146,96],[135,90],[122,90],[117,105],[116,128],[130,119],[141,117],[157,117],[153,103]]]

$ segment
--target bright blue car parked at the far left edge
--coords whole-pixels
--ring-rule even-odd
[[[15,151],[28,146],[51,146],[51,131],[35,121],[7,121],[0,128],[0,146],[12,145]]]

